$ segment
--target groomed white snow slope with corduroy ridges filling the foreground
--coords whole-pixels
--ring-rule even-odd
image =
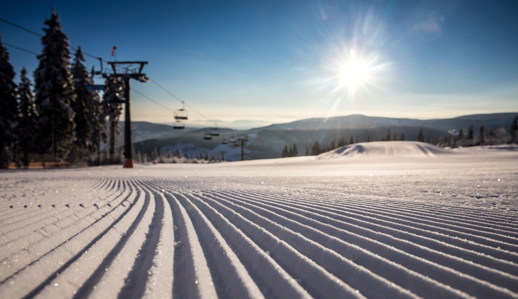
[[[454,153],[3,171],[0,298],[517,298],[518,152]]]

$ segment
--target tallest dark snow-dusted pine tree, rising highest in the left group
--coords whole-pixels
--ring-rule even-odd
[[[43,53],[38,56],[35,71],[36,107],[39,114],[40,152],[51,154],[52,161],[64,159],[75,140],[74,82],[70,73],[68,37],[61,30],[59,14],[52,10],[46,19],[45,35],[41,38]]]

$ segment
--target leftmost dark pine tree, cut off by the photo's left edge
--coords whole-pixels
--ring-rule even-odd
[[[0,164],[10,161],[15,143],[17,101],[15,70],[9,62],[9,53],[3,47],[0,35]]]

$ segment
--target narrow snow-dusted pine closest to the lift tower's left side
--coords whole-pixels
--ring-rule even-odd
[[[104,87],[104,101],[103,103],[103,118],[108,118],[110,124],[110,140],[109,140],[109,153],[110,161],[113,163],[115,155],[115,141],[117,135],[120,134],[119,130],[119,118],[122,114],[122,105],[120,101],[124,101],[122,90],[124,90],[124,83],[118,78],[106,79],[106,87]]]

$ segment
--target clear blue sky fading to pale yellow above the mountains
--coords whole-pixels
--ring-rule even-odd
[[[518,111],[515,0],[3,1],[0,17],[43,33],[52,6],[71,46],[148,61],[153,81],[200,112],[193,123]],[[0,34],[41,52],[29,32],[0,22]],[[6,48],[17,72],[37,68]],[[161,104],[133,92],[133,120],[173,121],[176,99],[153,82],[132,87]]]

